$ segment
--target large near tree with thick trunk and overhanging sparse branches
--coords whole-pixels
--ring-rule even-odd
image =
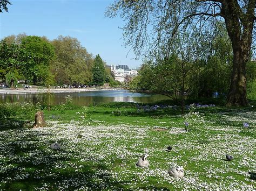
[[[199,30],[224,20],[233,49],[233,72],[228,105],[246,105],[246,63],[250,59],[256,0],[117,0],[106,12],[126,20],[123,27],[126,45],[134,52],[164,56],[171,54],[172,40],[191,26]],[[198,29],[197,29],[198,30]]]

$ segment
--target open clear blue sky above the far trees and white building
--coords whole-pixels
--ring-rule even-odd
[[[108,65],[139,67],[130,48],[123,46],[120,18],[104,16],[110,0],[10,0],[9,12],[0,13],[0,38],[25,32],[46,36],[77,38],[93,55],[99,54]],[[127,53],[129,54],[127,55]],[[127,58],[126,58],[127,55]]]

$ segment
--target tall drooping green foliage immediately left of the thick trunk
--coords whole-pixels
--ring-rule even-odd
[[[230,89],[233,53],[231,41],[223,25],[218,23],[221,35],[215,34],[208,58],[198,62],[200,73],[194,79],[193,97],[212,97],[215,91],[220,95],[227,95]]]

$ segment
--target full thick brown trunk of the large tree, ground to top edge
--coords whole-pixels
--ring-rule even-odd
[[[242,12],[238,1],[221,2],[228,36],[233,48],[233,72],[227,105],[247,105],[246,98],[246,62],[250,59],[252,31],[255,20],[255,0],[247,1],[247,11]]]

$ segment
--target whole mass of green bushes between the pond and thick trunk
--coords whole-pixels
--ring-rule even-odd
[[[188,98],[212,97],[215,91],[219,95],[227,95],[233,54],[231,42],[222,25],[219,23],[218,29],[223,35],[215,35],[208,53],[204,49],[207,46],[204,37],[199,35],[200,44],[197,44],[191,34],[179,34],[174,39],[175,45],[171,48],[173,54],[169,55],[169,59],[159,59],[155,64],[144,63],[132,82],[133,88],[150,90],[176,100],[183,93]],[[205,54],[208,54],[207,58]],[[253,65],[248,65],[248,68],[252,71],[248,75],[253,76]]]

